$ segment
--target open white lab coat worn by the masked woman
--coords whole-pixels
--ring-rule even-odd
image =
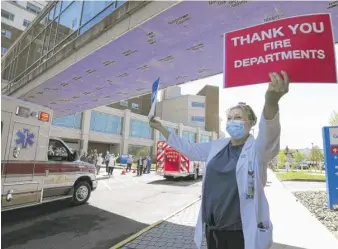
[[[205,161],[206,167],[220,150],[228,143],[229,138],[214,140],[208,143],[187,142],[174,133],[170,133],[167,143],[193,161]],[[257,139],[250,135],[246,141],[236,168],[236,179],[240,197],[240,212],[243,225],[245,249],[268,249],[272,245],[272,224],[269,204],[265,197],[264,186],[267,181],[267,165],[280,149],[279,113],[272,120],[265,120],[262,115]],[[252,165],[252,166],[249,166]],[[255,194],[247,199],[248,170],[254,169]],[[204,179],[202,188],[204,188]],[[269,229],[261,230],[257,226],[263,222]],[[202,212],[199,211],[194,241],[201,248],[204,224]]]

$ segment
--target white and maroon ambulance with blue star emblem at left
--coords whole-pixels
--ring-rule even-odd
[[[71,198],[84,204],[97,188],[95,167],[50,137],[52,110],[1,96],[1,210]]]

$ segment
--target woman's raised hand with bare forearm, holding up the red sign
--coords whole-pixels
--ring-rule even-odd
[[[281,71],[282,77],[278,73],[270,73],[268,90],[265,93],[264,117],[271,120],[278,112],[279,100],[289,92],[289,76],[286,72]]]

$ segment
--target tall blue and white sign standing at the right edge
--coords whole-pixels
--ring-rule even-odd
[[[326,189],[330,209],[338,208],[338,126],[323,127]]]

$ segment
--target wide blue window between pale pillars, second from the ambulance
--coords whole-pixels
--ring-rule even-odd
[[[90,131],[122,134],[122,117],[92,111],[90,116]]]

